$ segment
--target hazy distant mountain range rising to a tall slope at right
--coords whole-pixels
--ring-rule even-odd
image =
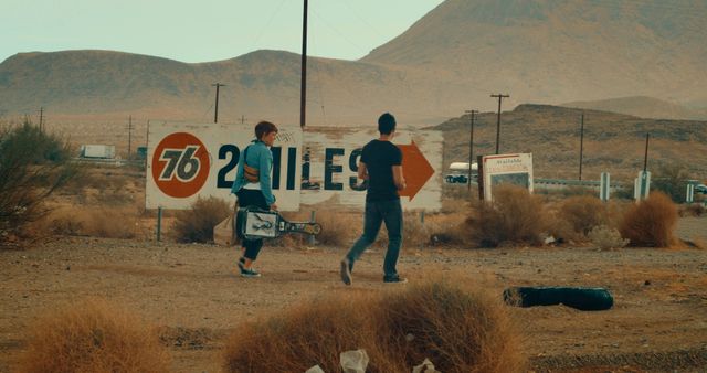
[[[360,61],[308,60],[308,124],[390,110],[439,124],[492,93],[641,117],[706,118],[707,0],[447,0]],[[299,122],[299,56],[257,51],[187,64],[109,51],[20,53],[0,64],[0,116]],[[614,99],[609,97],[637,97]],[[652,100],[666,103],[656,109]],[[592,102],[592,103],[587,103]],[[655,102],[653,102],[655,103]]]

